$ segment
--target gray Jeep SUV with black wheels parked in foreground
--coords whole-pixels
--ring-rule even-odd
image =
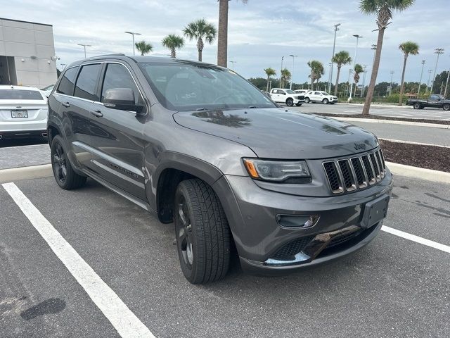
[[[48,134],[61,188],[91,177],[174,223],[192,283],[224,277],[235,251],[243,270],[267,275],[360,249],[392,190],[373,134],[285,110],[206,63],[72,63],[49,96]]]

